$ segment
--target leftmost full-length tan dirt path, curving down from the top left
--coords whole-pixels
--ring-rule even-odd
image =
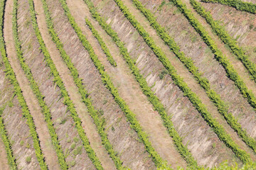
[[[6,42],[6,53],[9,56],[9,62],[11,67],[14,69],[16,74],[16,79],[18,80],[21,90],[23,91],[23,96],[28,105],[28,109],[33,116],[33,121],[36,125],[36,132],[40,140],[41,149],[44,156],[46,157],[46,164],[48,164],[49,169],[60,169],[58,162],[57,154],[51,143],[50,134],[46,125],[46,122],[41,113],[41,107],[39,106],[36,96],[34,96],[33,91],[29,85],[26,75],[21,69],[19,64],[18,57],[16,56],[16,50],[14,45],[14,37],[12,35],[12,10],[14,7],[14,1],[6,1],[6,12],[4,14],[4,40]]]

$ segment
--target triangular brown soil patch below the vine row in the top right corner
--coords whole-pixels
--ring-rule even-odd
[[[213,18],[220,21],[220,25],[235,39],[242,47],[250,60],[256,63],[256,18],[252,13],[238,11],[233,7],[220,4],[201,3],[207,11],[210,11]],[[224,12],[225,11],[225,12]]]

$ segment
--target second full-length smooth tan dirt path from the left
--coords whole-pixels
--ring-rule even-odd
[[[41,35],[46,43],[48,51],[50,52],[50,56],[55,64],[55,67],[58,69],[60,77],[65,84],[65,88],[67,89],[71,100],[75,104],[76,111],[82,120],[82,128],[85,130],[85,133],[90,141],[90,145],[97,154],[97,157],[100,159],[104,169],[115,169],[114,162],[112,162],[112,159],[110,159],[105,147],[102,146],[102,141],[97,132],[96,125],[93,123],[92,118],[87,112],[85,104],[82,103],[81,96],[73,81],[73,77],[71,77],[68,67],[66,67],[65,63],[60,57],[60,53],[55,43],[52,41],[50,34],[48,33],[46,16],[43,11],[43,4],[40,0],[34,0],[34,5],[36,13],[38,14],[37,21],[39,30],[41,31]]]

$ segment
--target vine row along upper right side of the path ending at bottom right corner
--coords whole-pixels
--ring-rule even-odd
[[[225,120],[227,120],[231,128],[233,128],[235,132],[238,132],[238,135],[242,138],[242,140],[256,152],[256,141],[252,137],[247,135],[247,132],[245,130],[242,130],[240,123],[238,123],[238,120],[235,119],[232,113],[228,113],[228,106],[226,106],[225,102],[221,100],[220,96],[213,89],[210,88],[210,83],[208,79],[206,79],[206,77],[202,77],[202,74],[198,72],[198,67],[193,64],[193,60],[186,57],[184,53],[180,51],[180,47],[175,42],[174,38],[171,38],[165,28],[160,26],[159,23],[156,22],[156,18],[149,11],[149,9],[142,6],[142,3],[138,0],[132,1],[135,6],[137,6],[137,8],[148,19],[150,25],[156,30],[156,33],[159,34],[159,36],[162,40],[164,40],[166,45],[169,45],[171,52],[174,52],[176,57],[178,57],[178,59],[183,62],[188,71],[193,74],[193,77],[195,77],[196,81],[198,81],[198,84],[200,84],[201,87],[203,87],[203,89],[206,91],[208,98],[213,101],[215,106],[218,108],[218,112],[224,116]]]

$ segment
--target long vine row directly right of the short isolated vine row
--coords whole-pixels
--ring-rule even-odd
[[[124,57],[124,60],[127,62],[129,69],[132,70],[132,74],[134,74],[134,77],[139,82],[139,85],[142,88],[143,93],[147,96],[151,104],[154,106],[154,109],[159,112],[159,115],[161,115],[162,120],[164,121],[164,126],[169,132],[169,135],[173,138],[174,144],[176,145],[178,152],[181,154],[181,156],[186,160],[186,162],[193,167],[197,167],[196,160],[193,159],[191,152],[188,151],[188,148],[183,145],[181,137],[178,135],[178,132],[176,132],[174,128],[174,124],[171,122],[171,118],[167,115],[163,104],[159,101],[159,98],[157,98],[154,95],[154,92],[151,91],[151,88],[146,83],[146,79],[140,74],[139,69],[134,64],[134,61],[132,60],[132,57],[130,57],[129,52],[126,47],[124,47],[124,42],[122,42],[119,38],[117,33],[112,30],[112,28],[100,17],[100,15],[97,13],[95,7],[93,6],[92,2],[89,0],[85,0],[85,3],[90,8],[90,12],[92,13],[92,16],[100,23],[100,26],[105,30],[105,32],[110,35],[112,40],[115,42],[117,47],[119,47],[119,52]],[[95,28],[92,26],[90,21],[86,19],[87,26],[93,31],[95,31]]]

